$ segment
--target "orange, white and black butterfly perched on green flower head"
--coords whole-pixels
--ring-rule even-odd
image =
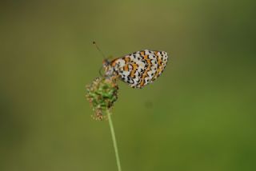
[[[105,59],[103,68],[106,78],[120,78],[133,88],[142,88],[162,74],[167,61],[165,51],[141,50],[112,61]]]

